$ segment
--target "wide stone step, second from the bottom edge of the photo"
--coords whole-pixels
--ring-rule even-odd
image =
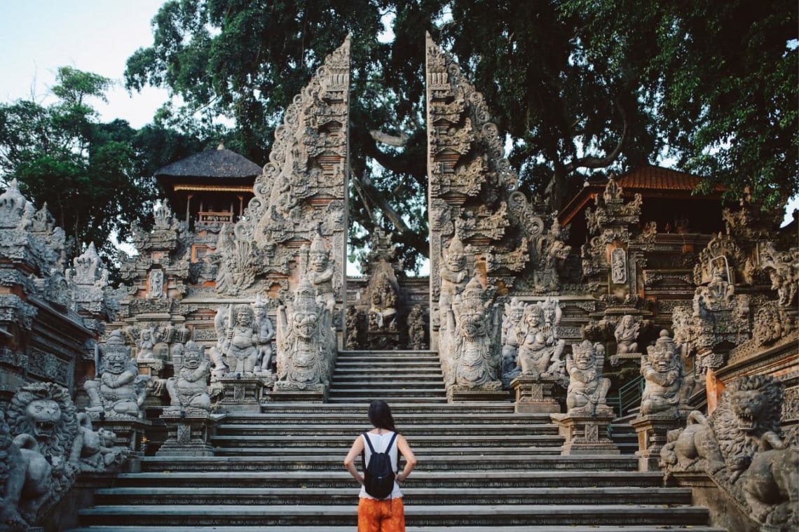
[[[699,506],[616,505],[408,505],[410,526],[654,525],[694,526],[707,522]],[[137,526],[355,526],[355,505],[119,505],[94,506],[80,512],[86,525]]]

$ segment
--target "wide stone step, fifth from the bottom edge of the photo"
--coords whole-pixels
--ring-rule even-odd
[[[142,471],[341,471],[341,455],[305,456],[145,456]],[[534,455],[510,452],[482,455],[429,456],[421,471],[634,471],[628,455]]]

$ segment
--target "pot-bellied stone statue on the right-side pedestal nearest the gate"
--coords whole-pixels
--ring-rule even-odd
[[[518,365],[523,375],[559,376],[565,368],[561,355],[566,341],[559,338],[562,317],[559,301],[547,298],[524,309],[524,340],[519,345]]]

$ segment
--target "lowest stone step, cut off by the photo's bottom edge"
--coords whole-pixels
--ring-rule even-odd
[[[684,527],[679,527],[682,530]],[[352,526],[308,525],[292,526],[125,526],[96,525],[81,526],[69,532],[352,532]],[[523,525],[503,526],[499,532],[664,532],[675,529],[674,526],[628,526],[628,525]],[[498,532],[496,526],[459,526],[457,530],[451,526],[407,526],[405,532]],[[690,527],[690,532],[726,532],[713,526]]]

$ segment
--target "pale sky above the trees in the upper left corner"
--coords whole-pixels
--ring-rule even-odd
[[[165,90],[128,94],[125,61],[153,43],[150,21],[165,0],[0,0],[0,101],[42,101],[59,66],[117,82],[109,104],[93,102],[101,120],[148,124],[167,100]],[[47,100],[44,100],[45,102]]]

